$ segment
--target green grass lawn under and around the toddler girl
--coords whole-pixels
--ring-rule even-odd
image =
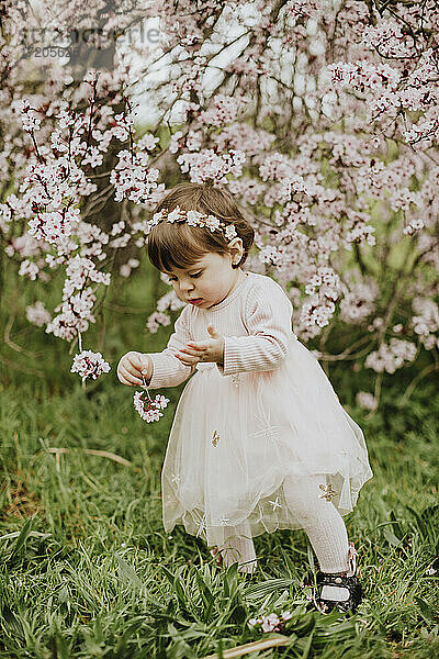
[[[439,656],[435,380],[424,380],[402,409],[414,373],[384,378],[380,411],[370,415],[353,404],[359,387],[370,390],[364,373],[349,364],[331,368],[340,400],[363,428],[374,478],[345,517],[365,599],[351,618],[323,616],[301,587],[317,567],[303,530],[255,538],[259,570],[251,578],[236,565],[218,571],[183,526],[171,537],[164,532],[160,472],[184,384],[166,390],[165,416],[146,424],[133,389],[115,375],[123,353],[159,350],[172,331],[144,332],[154,310],[154,280],[147,268],[144,275],[112,290],[100,327],[86,335],[86,347],[112,366],[86,391],[69,372],[67,345],[24,319],[38,297],[33,284],[9,280],[0,319],[4,335],[13,316],[13,345],[0,362],[0,655],[194,659],[261,638],[248,619],[290,610],[290,646],[250,659]],[[49,300],[50,309],[59,302]],[[57,457],[50,448],[70,453]]]

